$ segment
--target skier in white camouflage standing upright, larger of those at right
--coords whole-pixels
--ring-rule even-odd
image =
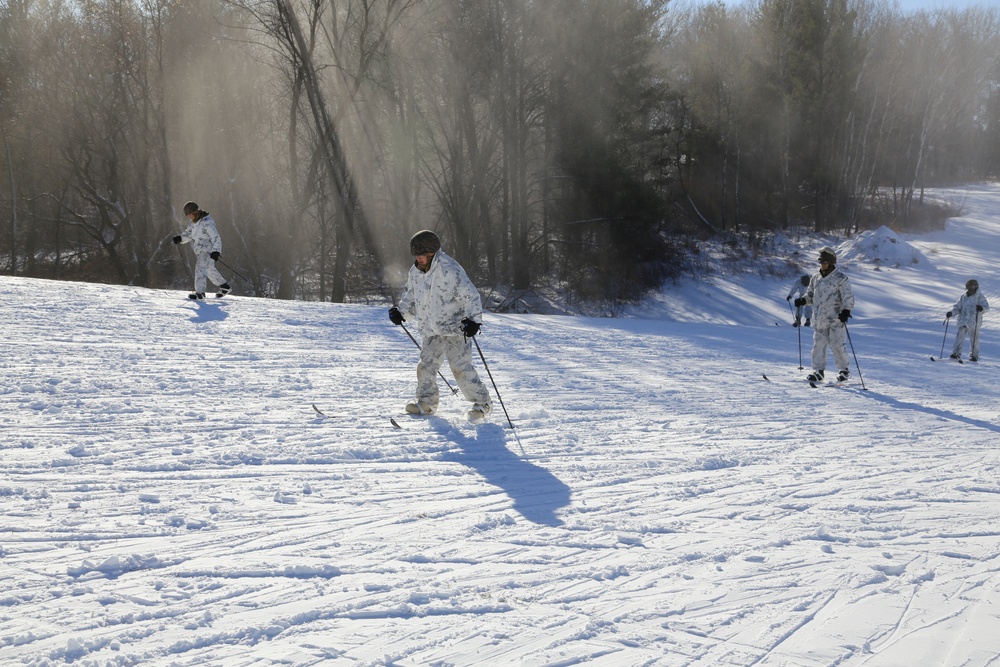
[[[851,376],[847,359],[847,320],[854,308],[851,282],[837,268],[837,254],[830,247],[819,251],[819,273],[809,280],[805,296],[795,300],[796,307],[813,307],[813,371],[806,378],[820,382],[826,371],[826,351],[833,352],[833,361],[840,371],[838,382]]]

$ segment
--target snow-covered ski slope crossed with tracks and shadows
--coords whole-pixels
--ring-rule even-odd
[[[867,390],[722,276],[487,314],[514,429],[404,415],[384,307],[0,278],[0,664],[1000,665],[996,315],[929,359],[1000,186],[938,194],[838,248]]]

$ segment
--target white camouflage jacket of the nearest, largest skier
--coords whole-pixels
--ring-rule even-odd
[[[416,317],[422,336],[460,336],[462,319],[483,321],[483,302],[465,269],[442,251],[423,272],[414,264],[406,278],[399,312]]]

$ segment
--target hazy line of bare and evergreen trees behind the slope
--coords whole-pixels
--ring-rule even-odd
[[[0,271],[187,287],[195,200],[241,293],[391,298],[432,228],[508,300],[630,300],[700,235],[995,175],[998,37],[884,0],[0,0]]]

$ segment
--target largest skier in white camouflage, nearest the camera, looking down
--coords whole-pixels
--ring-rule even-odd
[[[469,419],[478,421],[490,413],[489,390],[472,365],[468,338],[479,333],[483,304],[479,290],[465,269],[441,250],[441,241],[430,230],[410,239],[413,266],[399,306],[389,309],[389,320],[401,325],[406,317],[419,320],[423,345],[417,364],[416,400],[406,404],[410,414],[433,414],[439,394],[437,374],[445,358],[459,389],[472,402]]]

